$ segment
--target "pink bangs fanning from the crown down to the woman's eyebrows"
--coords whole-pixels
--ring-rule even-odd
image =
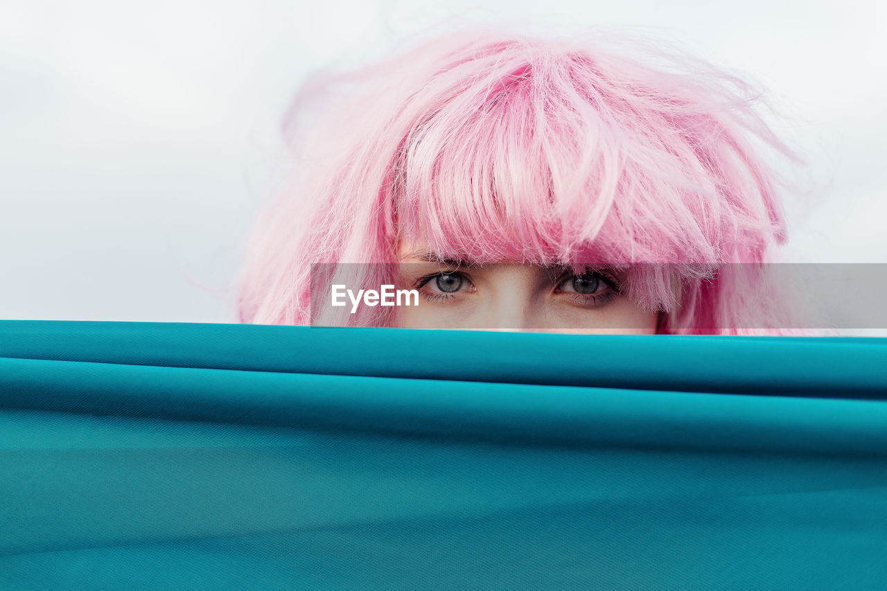
[[[671,309],[677,280],[708,276],[704,264],[723,256],[718,232],[731,220],[705,210],[722,201],[710,167],[673,117],[665,130],[661,113],[640,114],[638,125],[640,105],[611,96],[583,56],[530,49],[447,88],[406,134],[395,164],[398,239],[475,264],[641,265],[633,284],[647,287],[633,295]]]

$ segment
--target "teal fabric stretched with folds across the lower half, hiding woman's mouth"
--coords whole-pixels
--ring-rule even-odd
[[[0,321],[0,588],[887,588],[887,340]]]

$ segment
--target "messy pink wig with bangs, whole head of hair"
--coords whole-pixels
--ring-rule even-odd
[[[317,321],[311,264],[378,288],[406,240],[477,264],[628,265],[660,333],[780,334],[789,306],[764,280],[786,237],[772,161],[794,156],[759,93],[616,42],[475,29],[304,83],[293,175],[249,241],[240,321]],[[326,320],[390,326],[391,311]]]

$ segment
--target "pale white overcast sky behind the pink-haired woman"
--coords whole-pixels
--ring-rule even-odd
[[[887,263],[887,9],[750,0],[0,0],[0,318],[233,322],[311,70],[443,19],[600,25],[747,73],[819,189],[788,256]]]

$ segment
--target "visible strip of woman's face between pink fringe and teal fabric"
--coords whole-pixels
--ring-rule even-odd
[[[442,262],[422,244],[402,243],[398,250],[398,287],[420,292],[418,306],[398,309],[400,327],[655,334],[657,313],[620,293],[624,272],[577,278],[564,267]]]

